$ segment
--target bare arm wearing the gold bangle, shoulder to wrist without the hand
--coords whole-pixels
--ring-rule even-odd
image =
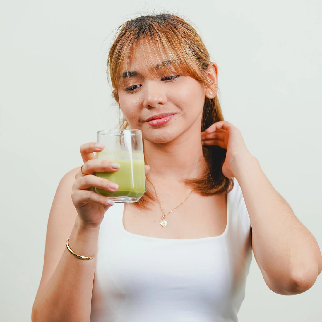
[[[32,321],[89,321],[99,227],[83,227],[71,201],[76,169],[61,180],[49,215],[43,275]],[[76,219],[76,221],[75,221]],[[92,260],[80,260],[66,248]]]

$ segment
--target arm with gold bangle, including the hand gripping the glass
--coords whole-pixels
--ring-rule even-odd
[[[95,159],[94,151],[103,150],[96,142],[81,146],[84,165],[61,180],[49,215],[43,276],[33,304],[33,322],[89,321],[96,264],[99,226],[104,213],[113,204],[107,197],[90,190],[94,186],[111,192],[109,180],[94,172],[116,172],[113,162]],[[79,255],[90,257],[82,260]]]

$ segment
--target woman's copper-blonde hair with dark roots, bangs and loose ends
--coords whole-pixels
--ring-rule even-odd
[[[176,72],[190,76],[205,86],[209,85],[210,80],[205,72],[209,64],[209,53],[195,29],[173,14],[146,15],[123,24],[111,45],[107,71],[117,101],[118,88],[124,86],[120,76],[124,70],[128,71],[130,58],[140,48],[144,48],[145,67],[152,66],[152,59],[157,56],[159,62],[165,62],[162,68],[174,68]],[[171,62],[171,66],[168,62]],[[151,69],[151,73],[155,72]],[[205,97],[201,132],[211,124],[223,120],[218,97]],[[120,127],[126,128],[128,123],[122,119]],[[233,181],[222,172],[226,150],[219,146],[204,146],[203,154],[207,164],[204,172],[197,178],[186,179],[185,182],[194,191],[205,196],[228,193],[232,189]],[[147,208],[147,204],[155,200],[149,188],[151,187],[148,186],[147,192],[136,203],[138,207]]]

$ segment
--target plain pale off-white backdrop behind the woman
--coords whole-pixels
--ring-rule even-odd
[[[1,321],[30,321],[52,199],[79,146],[115,128],[106,78],[115,29],[185,16],[219,66],[226,120],[322,246],[320,0],[1,1]],[[322,278],[282,296],[252,260],[240,322],[322,320]]]

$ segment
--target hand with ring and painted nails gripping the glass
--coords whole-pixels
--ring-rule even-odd
[[[118,171],[118,168],[113,167],[113,161],[95,158],[94,152],[100,152],[103,149],[104,146],[96,142],[81,146],[81,157],[84,165],[75,175],[76,181],[71,191],[71,199],[79,219],[87,227],[99,226],[103,220],[104,213],[114,204],[109,198],[91,191],[90,188],[96,187],[111,192],[118,190],[118,185],[114,182],[94,175],[94,172]]]

